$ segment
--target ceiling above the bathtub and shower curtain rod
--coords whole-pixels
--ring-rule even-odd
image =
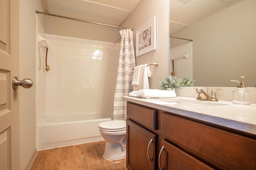
[[[42,0],[50,14],[120,26],[140,0]]]

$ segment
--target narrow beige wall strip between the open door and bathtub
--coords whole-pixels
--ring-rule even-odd
[[[40,0],[20,1],[20,75],[36,82],[36,14],[43,11]],[[43,19],[42,19],[43,20]],[[24,169],[36,148],[35,85],[20,87],[20,169]]]

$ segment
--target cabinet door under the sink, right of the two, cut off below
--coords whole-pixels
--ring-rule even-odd
[[[165,150],[165,151],[164,151]],[[161,160],[161,155],[163,155],[165,152],[165,162],[164,165],[160,165],[160,169],[165,170],[193,170],[193,169],[200,169],[200,170],[206,170],[206,169],[213,169],[212,167],[206,165],[204,162],[199,161],[197,158],[189,155],[188,153],[184,152],[183,150],[180,150],[173,144],[167,142],[166,140],[162,140],[162,150],[159,154],[159,161]]]

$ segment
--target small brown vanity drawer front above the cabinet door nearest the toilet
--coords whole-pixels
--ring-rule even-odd
[[[154,109],[127,103],[127,116],[154,130],[156,130],[155,113]]]

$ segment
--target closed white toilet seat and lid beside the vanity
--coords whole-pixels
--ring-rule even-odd
[[[99,129],[108,131],[108,132],[117,132],[117,131],[126,130],[126,122],[123,120],[101,122],[99,124]]]

